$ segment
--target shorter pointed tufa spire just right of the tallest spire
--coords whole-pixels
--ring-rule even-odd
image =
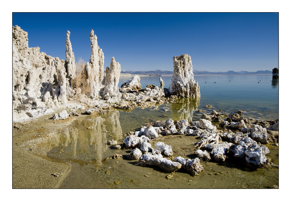
[[[105,100],[121,97],[121,93],[118,88],[120,70],[120,64],[118,62],[116,63],[114,57],[112,57],[110,69],[106,67],[106,76],[104,80],[105,87],[103,90],[103,98]]]

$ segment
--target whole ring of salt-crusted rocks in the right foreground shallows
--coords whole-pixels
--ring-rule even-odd
[[[255,120],[239,114],[242,114],[242,111],[229,115],[212,111],[207,117],[212,119],[216,126],[212,125],[210,120],[202,119],[206,117],[206,114],[203,114],[199,121],[167,119],[148,123],[147,126],[141,127],[140,131],[132,132],[132,135],[125,137],[123,147],[134,149],[127,158],[139,160],[141,166],[154,165],[169,172],[178,171],[182,167],[193,176],[198,175],[204,169],[200,160],[240,163],[251,169],[272,167],[271,160],[266,157],[270,151],[263,144],[278,142],[278,119],[273,121]],[[219,115],[228,121],[233,121],[233,125],[239,123],[239,126],[217,124],[212,117]],[[228,121],[221,120],[221,122]],[[265,127],[263,128],[261,125]],[[193,159],[181,156],[173,158],[171,145],[164,144],[164,142],[157,142],[155,148],[152,148],[150,144],[152,139],[164,139],[163,135],[167,135],[166,131],[170,129],[173,131],[174,128],[175,132],[172,132],[171,135],[192,135],[197,136],[196,139],[200,139],[193,143],[193,146],[196,145]],[[173,162],[178,162],[181,166],[177,166]]]

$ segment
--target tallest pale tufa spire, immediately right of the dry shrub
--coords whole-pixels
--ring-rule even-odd
[[[92,99],[99,99],[101,98],[100,90],[104,88],[104,54],[97,44],[97,36],[94,35],[93,30],[90,33],[90,40],[91,56],[89,62],[86,63],[87,82],[91,89],[88,95]]]

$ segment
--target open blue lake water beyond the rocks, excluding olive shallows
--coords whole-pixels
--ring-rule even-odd
[[[164,88],[169,88],[171,76],[161,77]],[[128,79],[130,77],[120,77],[118,86]],[[210,104],[211,109],[221,109],[224,113],[241,110],[248,117],[267,120],[279,118],[278,79],[272,80],[272,75],[194,75],[194,79],[198,82],[201,94],[198,109]],[[141,87],[145,88],[148,84],[159,86],[159,77],[141,77]]]

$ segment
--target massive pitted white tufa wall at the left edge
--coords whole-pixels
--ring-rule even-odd
[[[39,117],[67,102],[65,61],[29,48],[27,36],[12,27],[13,121]]]

